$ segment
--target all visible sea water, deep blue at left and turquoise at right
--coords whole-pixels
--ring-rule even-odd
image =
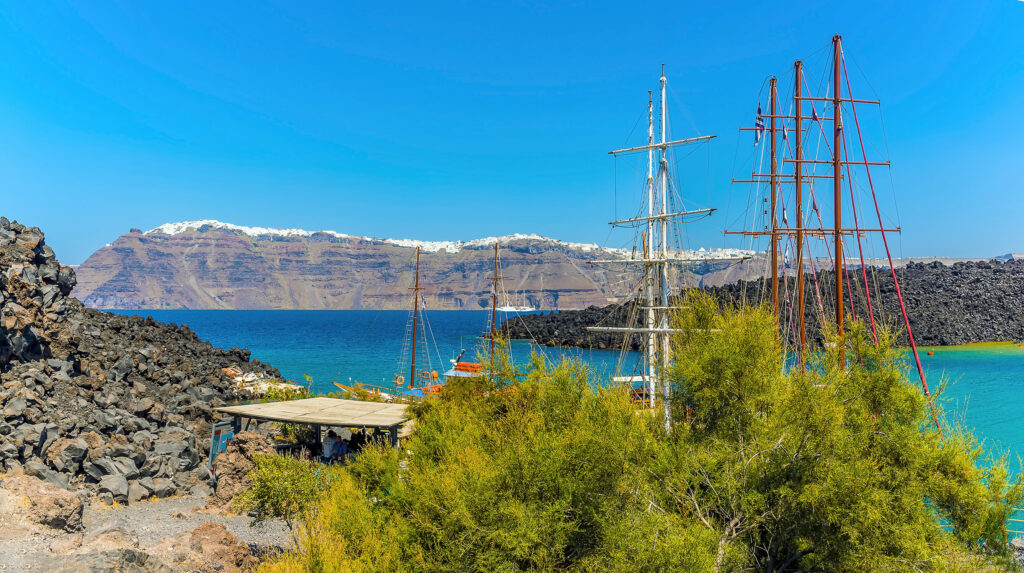
[[[303,374],[309,374],[314,389],[322,392],[335,390],[333,382],[358,381],[391,388],[409,320],[407,311],[119,312],[187,324],[215,346],[248,348],[255,358],[276,366],[289,380],[302,381]],[[428,339],[432,361],[419,365],[425,359],[421,345],[418,370],[441,371],[463,348],[467,359],[475,359],[482,344],[479,335],[487,328],[485,311],[435,311],[427,320],[433,334]],[[590,363],[598,381],[612,376],[618,359],[613,351],[512,343],[513,359],[520,363],[535,350],[551,359],[580,358]],[[934,356],[927,354],[929,350]],[[632,368],[637,358],[636,353],[629,353],[628,367]],[[909,364],[909,355],[907,358]],[[1016,345],[928,348],[922,349],[921,358],[933,392],[941,380],[948,382],[942,401],[950,417],[973,429],[990,451],[1009,452],[1011,468],[1019,469],[1017,456],[1024,455],[1024,350]],[[408,363],[400,373],[409,376]],[[908,373],[916,382],[912,364]]]

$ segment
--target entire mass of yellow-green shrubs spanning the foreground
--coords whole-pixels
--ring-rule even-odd
[[[1010,567],[1002,459],[940,436],[894,336],[783,369],[763,308],[693,297],[660,409],[539,357],[417,405],[340,469],[270,571],[975,571]],[[835,348],[835,347],[833,347]],[[498,360],[496,360],[497,362]],[[501,379],[501,377],[499,377]],[[517,384],[514,384],[516,383]],[[943,441],[944,440],[944,441]],[[305,470],[303,470],[305,471]]]

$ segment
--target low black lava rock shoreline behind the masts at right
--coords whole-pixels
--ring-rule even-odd
[[[1024,261],[1008,260],[957,262],[944,265],[911,263],[897,269],[900,289],[910,317],[914,339],[921,346],[954,346],[978,342],[1024,341]],[[816,293],[827,291],[835,275],[821,271],[816,280],[805,276],[806,323],[809,339],[820,342],[821,313]],[[860,269],[850,269],[855,285],[863,282]],[[899,301],[888,268],[868,271],[871,305],[877,320],[902,326]],[[741,280],[724,286],[706,288],[720,300],[735,303],[770,300],[766,280]],[[795,292],[796,280],[786,279],[780,291]],[[825,294],[827,296],[827,293]],[[863,289],[853,293],[855,314],[866,316],[867,301]],[[676,302],[678,302],[678,297]],[[590,307],[557,314],[536,314],[507,320],[502,328],[513,339],[534,340],[547,346],[577,346],[596,349],[617,349],[623,335],[590,333],[587,326],[622,325],[633,303]],[[847,302],[849,306],[849,302]],[[823,304],[826,312],[827,303]],[[830,316],[830,315],[829,315]],[[783,322],[783,337],[793,338],[793,330]],[[905,343],[905,336],[901,337]],[[639,350],[634,337],[631,346]]]

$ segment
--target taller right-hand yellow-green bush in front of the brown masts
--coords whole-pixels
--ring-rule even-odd
[[[694,296],[677,316],[672,456],[655,473],[693,513],[763,570],[944,570],[1006,560],[1006,518],[1019,504],[1005,459],[932,421],[905,376],[895,333],[876,345],[852,323],[838,352],[786,358],[764,308],[719,308]]]

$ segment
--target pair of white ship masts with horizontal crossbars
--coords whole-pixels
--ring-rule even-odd
[[[714,209],[682,209],[682,200],[674,188],[674,179],[670,173],[670,151],[679,145],[703,143],[713,139],[714,135],[698,135],[686,139],[669,139],[668,122],[668,80],[665,76],[665,65],[662,65],[659,79],[659,115],[657,117],[657,134],[655,138],[654,99],[651,92],[647,98],[647,143],[635,147],[627,147],[609,151],[611,156],[646,152],[647,178],[644,184],[645,205],[642,205],[636,217],[612,221],[612,227],[632,227],[639,233],[640,257],[634,254],[624,259],[608,259],[593,261],[593,264],[627,264],[641,267],[639,296],[634,309],[641,312],[631,313],[627,324],[615,326],[589,326],[596,333],[612,333],[624,335],[624,345],[635,336],[641,337],[642,359],[633,376],[620,376],[616,382],[640,384],[634,387],[634,395],[640,397],[646,405],[656,407],[656,394],[660,389],[666,412],[666,430],[669,426],[670,386],[667,376],[671,361],[670,339],[677,332],[671,327],[670,296],[675,273],[673,267],[691,265],[711,260],[710,256],[694,254],[681,249],[682,231],[679,223],[707,217]],[[676,245],[672,245],[673,243]],[[715,260],[728,260],[716,257]],[[677,291],[681,290],[681,284]],[[618,370],[624,371],[620,362]]]

